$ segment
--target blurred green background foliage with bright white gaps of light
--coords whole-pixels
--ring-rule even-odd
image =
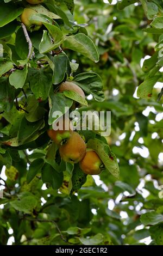
[[[153,2],[162,6],[161,1]],[[60,190],[47,188],[39,176],[27,185],[29,164],[42,151],[35,149],[30,155],[19,150],[20,161],[14,155],[15,168],[9,174],[5,171],[5,184],[1,180],[5,198],[0,200],[0,244],[163,245],[161,80],[149,99],[136,95],[146,77],[143,60],[154,54],[160,34],[143,31],[151,20],[140,2],[122,10],[117,9],[116,1],[74,3],[74,20],[83,24],[78,29],[96,43],[100,60],[93,63],[79,53],[65,52],[79,63],[73,75],[93,71],[103,80],[105,101],[88,99],[93,109],[111,111],[111,135],[106,139],[117,156],[120,179],[106,172],[89,176],[70,199],[66,173]],[[72,19],[68,10],[66,14]],[[15,205],[17,196],[21,211]],[[26,208],[28,199],[30,209]],[[8,200],[10,204],[6,204]]]

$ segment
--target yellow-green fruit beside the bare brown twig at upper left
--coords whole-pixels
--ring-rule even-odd
[[[30,32],[37,31],[41,28],[42,22],[30,20],[32,15],[37,14],[37,12],[30,8],[24,8],[23,13],[20,16],[21,22],[26,26],[27,30]]]

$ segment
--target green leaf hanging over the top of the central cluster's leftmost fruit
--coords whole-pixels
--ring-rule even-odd
[[[55,119],[65,114],[65,107],[70,108],[72,106],[72,103],[73,101],[65,97],[63,93],[49,94],[50,111],[49,111],[48,124],[52,125]],[[60,111],[61,114],[58,117],[54,117],[53,113],[55,111]]]

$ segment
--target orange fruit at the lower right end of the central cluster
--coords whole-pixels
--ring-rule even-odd
[[[90,175],[101,173],[101,168],[103,167],[101,159],[93,150],[86,151],[86,154],[79,165],[85,174]]]

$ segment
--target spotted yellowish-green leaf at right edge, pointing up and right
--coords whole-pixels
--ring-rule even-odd
[[[160,77],[161,76],[153,76],[142,82],[137,89],[137,97],[142,97],[144,99],[151,97],[153,87]]]

